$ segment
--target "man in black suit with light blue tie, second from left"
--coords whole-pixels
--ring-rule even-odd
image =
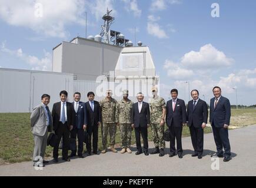
[[[73,129],[75,123],[75,110],[72,103],[67,102],[68,92],[62,90],[59,93],[61,102],[54,103],[52,107],[52,121],[54,123],[54,132],[57,136],[54,146],[54,162],[58,163],[59,142],[62,137],[62,160],[70,161],[68,158],[69,149],[69,131]]]

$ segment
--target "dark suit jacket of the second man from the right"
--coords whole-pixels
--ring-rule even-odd
[[[204,100],[198,99],[197,105],[193,110],[194,100],[188,102],[187,108],[187,120],[188,126],[193,125],[194,127],[202,127],[202,123],[207,123],[208,108],[207,103]]]

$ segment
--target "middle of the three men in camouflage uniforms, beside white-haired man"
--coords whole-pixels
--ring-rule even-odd
[[[120,125],[122,150],[121,153],[132,153],[131,146],[131,113],[133,102],[128,99],[128,90],[122,91],[123,99],[117,103],[115,109],[115,122]]]

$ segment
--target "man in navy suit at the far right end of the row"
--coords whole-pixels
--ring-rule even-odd
[[[223,157],[224,147],[224,162],[231,159],[230,140],[228,139],[228,126],[230,125],[231,107],[230,100],[221,96],[221,88],[215,86],[212,89],[214,98],[210,102],[210,123],[214,141],[217,146],[217,152],[211,157]]]

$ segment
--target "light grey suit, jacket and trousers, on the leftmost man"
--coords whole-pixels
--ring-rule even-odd
[[[51,118],[52,122],[51,112],[49,113],[49,118]],[[31,132],[33,133],[35,142],[33,161],[36,162],[39,160],[39,156],[44,159],[48,132],[52,132],[53,127],[52,123],[47,126],[47,113],[42,103],[33,109],[30,120],[32,127]]]

